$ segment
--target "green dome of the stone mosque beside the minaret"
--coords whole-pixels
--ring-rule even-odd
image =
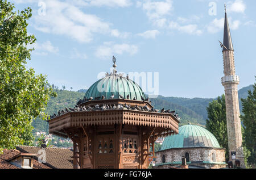
[[[196,147],[220,148],[220,145],[216,137],[207,129],[198,125],[188,124],[179,128],[179,135],[166,137],[161,150]]]

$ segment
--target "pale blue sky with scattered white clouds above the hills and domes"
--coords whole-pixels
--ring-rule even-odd
[[[234,45],[238,89],[256,76],[256,1],[11,0],[32,8],[28,34],[36,36],[27,68],[50,84],[88,89],[110,72],[150,74],[160,95],[216,98],[224,94],[224,4]],[[100,74],[100,75],[99,75]],[[148,80],[149,79],[149,80]],[[140,85],[141,83],[138,82]],[[148,86],[144,92],[150,94]]]

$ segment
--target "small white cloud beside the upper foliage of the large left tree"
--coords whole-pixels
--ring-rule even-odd
[[[35,48],[35,54],[36,55],[48,55],[48,53],[58,53],[59,52],[59,48],[58,47],[54,47],[51,43],[51,41],[45,41],[44,43],[38,43],[35,42],[32,45],[29,45],[28,48]]]

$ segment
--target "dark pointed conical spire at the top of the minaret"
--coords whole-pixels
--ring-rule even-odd
[[[223,45],[231,51],[234,51],[233,49],[233,43],[232,38],[230,34],[230,28],[229,28],[229,21],[228,16],[226,15],[226,5],[225,5],[225,24],[224,24],[224,39],[223,39]],[[223,47],[223,51],[227,51],[227,49]]]

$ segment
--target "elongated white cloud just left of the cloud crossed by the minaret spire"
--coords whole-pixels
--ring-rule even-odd
[[[180,32],[187,33],[189,35],[200,36],[201,34],[203,34],[203,31],[199,30],[197,24],[188,24],[188,25],[185,25],[185,26],[180,26],[179,23],[172,21],[172,22],[169,23],[169,28],[171,30],[177,30],[177,31],[180,31]]]

